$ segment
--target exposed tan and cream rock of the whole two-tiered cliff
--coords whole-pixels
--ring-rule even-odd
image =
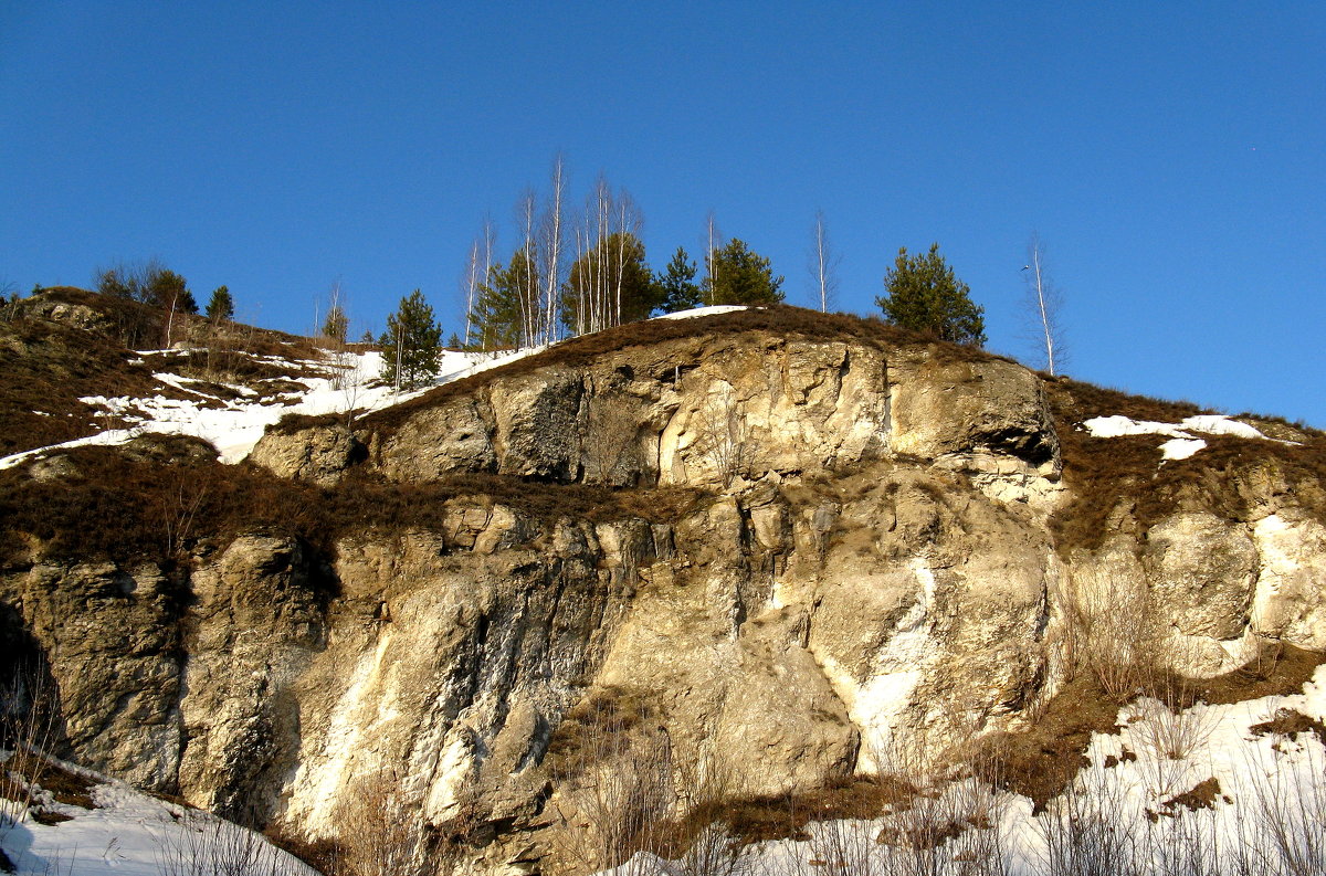
[[[721,755],[758,796],[1017,730],[1083,653],[1215,676],[1266,643],[1326,649],[1326,529],[1294,481],[1258,468],[1237,514],[1201,488],[1154,518],[1109,497],[1106,531],[1070,539],[1073,424],[1006,360],[697,326],[438,396],[253,460],[341,490],[701,492],[586,517],[471,488],[426,526],[240,534],[164,569],[32,545],[0,599],[70,750],[322,836],[389,775],[411,819],[514,872],[553,848],[595,716],[678,763]]]

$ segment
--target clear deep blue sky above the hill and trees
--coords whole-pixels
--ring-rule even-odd
[[[631,7],[631,8],[627,8]],[[810,303],[870,313],[941,252],[1021,338],[1030,233],[1081,379],[1326,427],[1326,4],[0,1],[0,282],[159,257],[200,300],[354,331],[422,288],[456,327],[485,212],[565,155],[644,213],[705,216]],[[325,303],[321,305],[325,309]]]

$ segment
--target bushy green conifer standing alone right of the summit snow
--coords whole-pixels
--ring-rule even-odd
[[[908,256],[900,248],[884,274],[884,290],[875,303],[891,325],[953,343],[985,343],[985,309],[972,303],[971,288],[939,254],[939,244],[924,256]]]

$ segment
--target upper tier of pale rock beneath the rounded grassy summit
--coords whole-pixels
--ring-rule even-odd
[[[361,428],[371,435],[373,417]],[[410,482],[496,472],[725,486],[895,455],[1024,480],[1058,473],[1044,392],[1017,364],[770,335],[537,367],[419,410],[367,443],[377,448],[371,466]],[[358,459],[353,439],[330,427],[269,435],[252,456],[282,477],[318,482]],[[1005,463],[983,465],[991,460]]]

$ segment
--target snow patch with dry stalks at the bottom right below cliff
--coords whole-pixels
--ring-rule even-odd
[[[1305,729],[1258,728],[1277,717],[1281,730]],[[1311,721],[1323,720],[1326,667],[1294,696],[1179,713],[1139,700],[1120,709],[1118,734],[1093,736],[1090,765],[1041,814],[965,779],[876,820],[813,823],[809,840],[749,847],[741,867],[751,876],[1322,876],[1326,726]],[[646,855],[614,871],[687,872]]]

